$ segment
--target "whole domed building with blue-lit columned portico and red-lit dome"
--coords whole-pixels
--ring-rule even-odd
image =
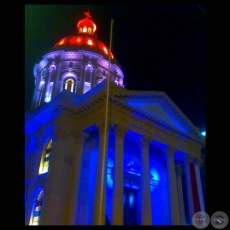
[[[192,225],[204,137],[165,92],[125,89],[85,15],[33,69],[25,225]]]

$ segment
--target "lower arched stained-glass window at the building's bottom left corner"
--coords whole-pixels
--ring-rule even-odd
[[[32,212],[30,225],[39,225],[43,198],[44,198],[44,191],[43,189],[41,189],[35,200],[35,206]]]

